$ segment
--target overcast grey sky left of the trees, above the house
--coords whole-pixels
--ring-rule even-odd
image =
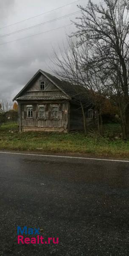
[[[13,35],[9,33],[20,29],[28,28],[39,23],[43,23],[55,18],[78,12],[77,4],[87,5],[88,0],[80,0],[69,6],[49,12],[60,6],[67,5],[75,0],[0,0],[0,100],[13,99],[22,87],[31,79],[37,70],[42,69],[50,72],[50,58],[53,56],[53,48],[58,51],[58,45],[65,42],[66,34],[70,35],[74,25],[70,20],[75,20],[79,14],[65,17],[37,26],[26,31]],[[98,2],[94,0],[93,2]],[[44,12],[47,14],[40,15]],[[40,15],[33,19],[28,19]],[[23,22],[17,23],[21,20]],[[17,23],[12,26],[13,23]],[[64,28],[59,28],[65,26]],[[51,32],[51,29],[59,28]],[[37,33],[30,38],[25,38]],[[8,36],[6,36],[8,35]],[[25,38],[19,41],[14,41]],[[10,42],[14,41],[14,42]],[[7,42],[10,42],[6,44]]]

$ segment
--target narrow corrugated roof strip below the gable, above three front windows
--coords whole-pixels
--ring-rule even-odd
[[[47,96],[21,96],[16,100],[59,100],[69,99],[66,95],[47,95]]]

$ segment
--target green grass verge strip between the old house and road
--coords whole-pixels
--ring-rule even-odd
[[[87,153],[94,156],[126,158],[129,157],[129,141],[125,143],[121,139],[112,140],[112,136],[120,132],[120,125],[108,124],[104,125],[104,138],[94,134],[86,137],[82,132],[19,133],[17,124],[8,122],[0,127],[0,150]]]

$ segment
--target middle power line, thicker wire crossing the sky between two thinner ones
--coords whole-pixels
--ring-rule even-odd
[[[68,14],[68,15],[63,15],[63,16],[58,17],[58,18],[55,18],[55,19],[53,19],[53,20],[48,20],[48,21],[45,21],[45,22],[43,22],[43,23],[36,24],[36,25],[34,25],[34,26],[30,26],[30,27],[27,27],[27,28],[24,28],[24,29],[20,29],[20,30],[11,32],[11,33],[9,33],[9,34],[1,35],[0,38],[6,37],[6,36],[9,36],[9,35],[14,35],[14,34],[17,34],[17,33],[20,33],[20,32],[23,32],[23,31],[26,31],[26,30],[29,30],[29,29],[32,29],[32,28],[36,28],[36,27],[38,27],[38,26],[43,26],[43,25],[45,25],[45,24],[47,24],[47,23],[51,23],[51,22],[56,21],[56,20],[61,20],[61,19],[66,18],[66,17],[70,17],[71,15],[75,15],[75,14],[77,14],[77,13],[79,13],[79,12],[81,12],[81,11],[72,12],[72,13],[70,13],[70,14]]]

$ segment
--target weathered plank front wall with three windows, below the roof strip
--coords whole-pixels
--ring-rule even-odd
[[[66,131],[67,132],[67,120],[68,120],[68,105],[65,102],[19,102],[19,127],[20,131]],[[33,106],[33,118],[27,116],[27,105]],[[39,118],[38,105],[45,105],[45,119]],[[52,117],[52,105],[59,107],[58,118]]]

